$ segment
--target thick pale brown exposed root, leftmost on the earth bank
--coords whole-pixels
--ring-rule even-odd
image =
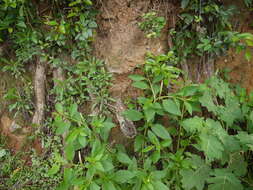
[[[45,116],[45,65],[40,62],[39,58],[36,58],[36,71],[34,76],[34,91],[35,91],[35,113],[32,119],[32,123],[40,126],[43,123]]]

